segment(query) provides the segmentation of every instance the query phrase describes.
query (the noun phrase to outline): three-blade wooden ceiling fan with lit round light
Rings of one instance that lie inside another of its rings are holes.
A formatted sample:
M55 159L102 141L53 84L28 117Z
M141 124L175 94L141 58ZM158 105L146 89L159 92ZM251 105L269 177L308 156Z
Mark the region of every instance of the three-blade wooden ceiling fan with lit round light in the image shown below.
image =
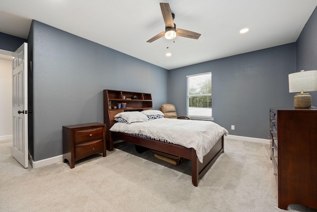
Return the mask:
M174 39L176 36L181 36L185 38L193 38L198 39L201 34L197 32L188 31L185 29L177 29L176 30L176 24L174 24L174 13L171 12L169 4L168 3L159 3L160 10L162 11L163 19L165 22L165 32L161 32L158 35L154 36L150 40L148 40L148 43L152 43L153 41L158 40L159 38L165 36L166 39Z

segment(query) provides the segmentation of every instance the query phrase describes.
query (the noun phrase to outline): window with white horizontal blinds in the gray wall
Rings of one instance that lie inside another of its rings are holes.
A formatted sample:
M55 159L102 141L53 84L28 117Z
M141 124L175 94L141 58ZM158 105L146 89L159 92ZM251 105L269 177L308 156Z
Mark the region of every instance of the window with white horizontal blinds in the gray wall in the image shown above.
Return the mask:
M191 119L213 120L211 72L187 76L187 115Z

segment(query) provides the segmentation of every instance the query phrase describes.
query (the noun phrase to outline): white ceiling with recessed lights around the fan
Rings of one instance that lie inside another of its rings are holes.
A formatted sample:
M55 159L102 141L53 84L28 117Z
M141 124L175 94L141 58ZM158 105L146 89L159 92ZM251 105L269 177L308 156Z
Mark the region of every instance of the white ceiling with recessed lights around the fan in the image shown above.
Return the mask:
M147 43L165 30L159 2L169 3L177 28L201 37ZM35 19L170 70L295 42L316 6L317 0L0 0L0 32L27 38ZM250 31L240 34L245 27Z

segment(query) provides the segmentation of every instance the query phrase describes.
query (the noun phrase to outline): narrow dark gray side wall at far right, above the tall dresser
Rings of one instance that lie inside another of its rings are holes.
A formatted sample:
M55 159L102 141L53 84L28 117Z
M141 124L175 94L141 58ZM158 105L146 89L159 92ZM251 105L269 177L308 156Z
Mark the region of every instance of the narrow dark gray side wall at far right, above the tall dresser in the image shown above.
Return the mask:
M296 71L317 70L317 8L296 41ZM312 95L312 106L317 107L317 91Z

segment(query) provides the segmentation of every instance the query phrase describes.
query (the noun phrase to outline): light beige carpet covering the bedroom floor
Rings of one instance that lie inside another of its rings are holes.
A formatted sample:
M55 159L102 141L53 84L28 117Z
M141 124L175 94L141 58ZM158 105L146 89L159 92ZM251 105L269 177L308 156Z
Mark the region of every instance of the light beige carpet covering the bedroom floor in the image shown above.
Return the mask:
M11 141L0 141L1 212L283 211L277 208L268 144L226 139L225 152L198 187L191 182L190 161L176 167L125 142L73 169L63 162L24 169L11 148Z

